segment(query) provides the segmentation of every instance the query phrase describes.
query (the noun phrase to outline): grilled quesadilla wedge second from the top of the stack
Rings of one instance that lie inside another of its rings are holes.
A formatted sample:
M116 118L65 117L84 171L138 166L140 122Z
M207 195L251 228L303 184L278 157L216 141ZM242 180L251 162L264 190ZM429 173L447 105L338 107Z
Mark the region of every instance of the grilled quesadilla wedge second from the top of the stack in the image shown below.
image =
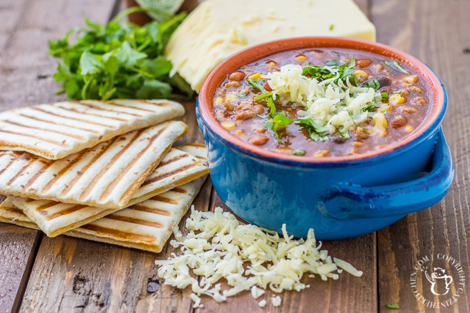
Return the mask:
M62 160L0 151L0 193L122 209L171 144L187 130L183 122L164 122L114 137Z

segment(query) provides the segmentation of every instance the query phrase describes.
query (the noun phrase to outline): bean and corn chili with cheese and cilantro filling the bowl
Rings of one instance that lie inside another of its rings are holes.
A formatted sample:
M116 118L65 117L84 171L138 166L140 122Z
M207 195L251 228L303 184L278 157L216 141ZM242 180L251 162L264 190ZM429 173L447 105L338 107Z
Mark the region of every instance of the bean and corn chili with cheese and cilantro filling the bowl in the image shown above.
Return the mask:
M278 153L354 155L400 142L432 104L418 73L356 50L294 50L242 66L216 89L230 133Z

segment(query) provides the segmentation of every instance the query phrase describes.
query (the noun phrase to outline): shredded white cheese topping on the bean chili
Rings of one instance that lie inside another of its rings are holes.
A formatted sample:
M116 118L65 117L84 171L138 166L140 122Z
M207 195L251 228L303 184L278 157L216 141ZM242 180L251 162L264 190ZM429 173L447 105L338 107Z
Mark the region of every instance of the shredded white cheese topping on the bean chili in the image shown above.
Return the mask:
M346 131L353 124L366 121L368 112L365 109L374 98L379 100L381 96L374 88L353 86L349 79L345 85L342 79L338 79L340 73L337 68L325 68L335 76L322 82L302 75L303 68L297 64L287 64L279 72L261 77L270 79L268 84L274 99L279 95L283 105L288 102L303 105L306 111L299 111L299 115L311 118L326 133L335 133L337 129Z

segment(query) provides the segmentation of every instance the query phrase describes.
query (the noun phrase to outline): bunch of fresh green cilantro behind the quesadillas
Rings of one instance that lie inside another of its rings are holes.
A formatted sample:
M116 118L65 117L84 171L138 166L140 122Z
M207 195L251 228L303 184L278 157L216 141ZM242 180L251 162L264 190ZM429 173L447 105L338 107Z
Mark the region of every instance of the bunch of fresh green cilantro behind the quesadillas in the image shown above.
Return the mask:
M63 83L58 93L70 99L158 99L190 97L191 88L179 75L169 77L171 62L162 56L171 34L185 14L168 15L144 26L118 23L140 9L130 8L106 26L85 19L90 29L74 28L63 39L49 41L49 54L58 57L54 78ZM77 39L69 42L71 35Z

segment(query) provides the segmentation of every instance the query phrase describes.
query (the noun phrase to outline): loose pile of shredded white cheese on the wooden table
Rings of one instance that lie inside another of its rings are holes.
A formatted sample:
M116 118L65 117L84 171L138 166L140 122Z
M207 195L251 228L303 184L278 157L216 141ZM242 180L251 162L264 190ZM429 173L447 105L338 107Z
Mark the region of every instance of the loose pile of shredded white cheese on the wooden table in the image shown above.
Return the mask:
M253 298L262 296L267 287L278 293L283 290L299 292L310 287L301 283L306 273L309 277L318 274L324 281L338 279L342 269L354 276L362 275L346 261L332 259L326 250L321 250L321 242L315 240L313 229L308 231L306 240L294 240L293 236L288 236L285 225L280 237L274 231L244 225L220 207L215 212L201 212L194 206L186 227L189 229L187 236L174 227L176 240L170 242L173 247L180 247L182 254L173 253L168 260L156 260L156 265L160 265L158 276L164 279L164 284L180 289L191 286L194 307L203 307L201 294L222 302L228 296L250 289ZM200 281L191 276L190 269L201 276ZM232 288L222 290L217 283L220 278L225 278ZM265 303L262 300L259 305ZM281 298L272 298L272 304L281 305Z

